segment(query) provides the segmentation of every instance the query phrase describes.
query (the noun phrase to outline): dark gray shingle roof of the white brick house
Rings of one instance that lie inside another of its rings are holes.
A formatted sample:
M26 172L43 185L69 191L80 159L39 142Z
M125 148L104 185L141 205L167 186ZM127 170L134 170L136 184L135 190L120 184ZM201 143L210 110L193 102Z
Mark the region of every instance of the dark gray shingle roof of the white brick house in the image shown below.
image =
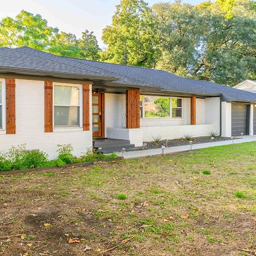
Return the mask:
M156 69L57 56L29 47L0 48L0 69L1 67L79 74L106 80L110 78L112 83L122 85L149 86L170 92L200 93L205 96L219 95L222 101L256 102L254 93L210 81L187 79Z

